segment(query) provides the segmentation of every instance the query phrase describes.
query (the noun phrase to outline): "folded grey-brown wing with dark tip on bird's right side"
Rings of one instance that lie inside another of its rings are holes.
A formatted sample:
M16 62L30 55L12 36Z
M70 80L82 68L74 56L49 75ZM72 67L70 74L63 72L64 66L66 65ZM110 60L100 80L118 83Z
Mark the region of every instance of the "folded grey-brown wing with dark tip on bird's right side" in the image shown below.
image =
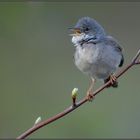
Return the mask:
M114 49L117 51L117 52L119 52L120 54L121 54L121 56L122 56L122 59L121 59L121 61L120 61L120 64L119 64L119 67L121 67L122 65L123 65L123 63L124 63L124 57L123 57L123 53L122 53L122 48L121 48L121 46L119 45L119 43L117 42L117 40L115 40L113 37L111 37L111 36L107 36L106 37L106 44L108 45L110 45L110 46L112 46L112 47L114 47Z

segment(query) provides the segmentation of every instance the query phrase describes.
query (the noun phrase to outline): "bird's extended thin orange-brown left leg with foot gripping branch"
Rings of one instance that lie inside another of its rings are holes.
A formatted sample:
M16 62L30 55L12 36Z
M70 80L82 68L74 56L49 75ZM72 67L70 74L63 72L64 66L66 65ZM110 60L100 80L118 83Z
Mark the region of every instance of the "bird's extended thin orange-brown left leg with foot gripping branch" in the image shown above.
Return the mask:
M90 87L89 87L89 89L88 89L88 91L87 91L87 95L86 95L86 97L87 97L87 99L89 100L89 101L92 101L93 100L93 98L94 98L94 95L93 95L93 86L94 86L94 84L95 84L95 79L91 79L91 84L90 84Z

